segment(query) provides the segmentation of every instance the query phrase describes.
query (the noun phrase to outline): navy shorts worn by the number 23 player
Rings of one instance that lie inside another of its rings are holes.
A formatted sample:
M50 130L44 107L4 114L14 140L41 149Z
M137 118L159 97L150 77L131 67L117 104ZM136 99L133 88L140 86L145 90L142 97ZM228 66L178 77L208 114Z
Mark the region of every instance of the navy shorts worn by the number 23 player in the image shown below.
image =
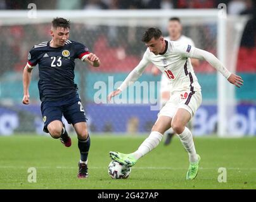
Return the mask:
M61 121L65 117L68 124L86 122L86 114L77 93L74 97L62 101L44 101L41 103L42 120L44 121L44 132L49 133L47 126L52 121Z

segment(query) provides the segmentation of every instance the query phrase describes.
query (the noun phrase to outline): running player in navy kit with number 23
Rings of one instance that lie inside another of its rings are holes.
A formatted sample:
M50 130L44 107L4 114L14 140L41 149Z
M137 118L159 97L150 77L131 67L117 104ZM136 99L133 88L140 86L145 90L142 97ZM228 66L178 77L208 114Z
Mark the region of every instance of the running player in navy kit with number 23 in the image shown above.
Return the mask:
M71 146L71 139L61 121L64 116L72 124L78 138L80 150L79 173L77 177L88 176L87 156L90 137L87 132L86 115L81 104L77 85L74 83L75 59L99 66L99 58L89 52L85 45L70 41L70 21L55 18L52 21L51 41L42 42L29 52L23 71L23 104L29 104L29 85L32 69L39 66L39 94L44 132L53 138L60 138L65 146Z

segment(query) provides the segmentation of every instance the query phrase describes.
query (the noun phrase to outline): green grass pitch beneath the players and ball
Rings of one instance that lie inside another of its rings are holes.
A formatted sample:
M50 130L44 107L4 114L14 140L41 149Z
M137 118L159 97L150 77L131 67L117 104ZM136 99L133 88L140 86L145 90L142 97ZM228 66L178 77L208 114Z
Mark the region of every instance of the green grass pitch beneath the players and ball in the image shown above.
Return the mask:
M198 177L186 181L188 156L178 138L161 143L132 167L128 179L113 180L107 172L108 151L130 153L145 136L91 136L89 178L77 179L77 139L65 148L49 136L0 137L0 189L255 189L256 138L195 138L202 161ZM37 182L27 181L29 167ZM218 182L226 167L227 182Z

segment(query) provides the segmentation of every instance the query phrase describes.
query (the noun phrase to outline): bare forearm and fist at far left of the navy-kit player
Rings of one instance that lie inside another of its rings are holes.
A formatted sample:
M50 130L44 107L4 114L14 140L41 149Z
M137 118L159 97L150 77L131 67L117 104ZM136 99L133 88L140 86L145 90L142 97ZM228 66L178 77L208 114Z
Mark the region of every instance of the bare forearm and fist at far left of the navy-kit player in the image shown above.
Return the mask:
M22 103L25 105L29 104L29 85L32 75L32 68L28 65L25 66L23 70L23 100Z

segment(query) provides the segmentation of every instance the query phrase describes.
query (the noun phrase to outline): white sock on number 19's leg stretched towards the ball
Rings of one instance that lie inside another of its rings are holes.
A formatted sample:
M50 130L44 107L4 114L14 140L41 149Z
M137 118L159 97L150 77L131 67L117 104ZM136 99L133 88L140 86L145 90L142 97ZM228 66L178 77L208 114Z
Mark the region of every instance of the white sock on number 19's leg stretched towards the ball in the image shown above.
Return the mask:
M153 150L153 148L156 148L157 145L162 140L163 135L161 133L158 133L157 131L152 131L150 133L150 136L146 138L146 140L143 141L141 146L139 146L138 150L132 153L134 157L138 160L139 158L146 155L146 153Z

